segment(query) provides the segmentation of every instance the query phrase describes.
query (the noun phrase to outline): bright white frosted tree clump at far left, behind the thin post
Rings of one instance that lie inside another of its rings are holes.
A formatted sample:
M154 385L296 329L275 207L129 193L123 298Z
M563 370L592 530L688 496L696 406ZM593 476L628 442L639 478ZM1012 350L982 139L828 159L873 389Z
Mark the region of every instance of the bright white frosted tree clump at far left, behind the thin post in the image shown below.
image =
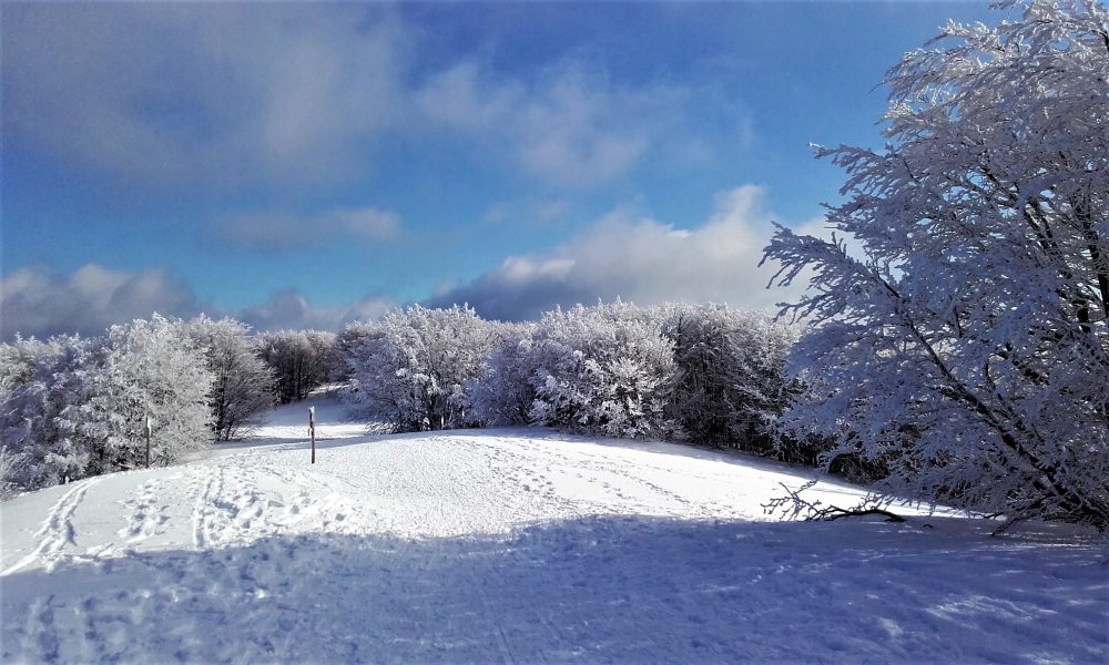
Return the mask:
M154 315L99 339L53 338L0 405L7 477L34 489L145 462L167 464L212 438L213 375L184 324Z

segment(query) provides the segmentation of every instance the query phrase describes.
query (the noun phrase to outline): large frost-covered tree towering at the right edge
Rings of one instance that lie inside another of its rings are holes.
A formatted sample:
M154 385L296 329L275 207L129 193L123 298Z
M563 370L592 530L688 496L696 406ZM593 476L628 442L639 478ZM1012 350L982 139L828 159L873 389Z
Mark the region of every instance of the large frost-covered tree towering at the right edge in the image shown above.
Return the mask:
M1105 530L1109 12L1021 9L891 70L885 150L818 150L862 254L785 228L767 247L781 283L811 274L784 311L818 324L787 424L881 459L892 491Z

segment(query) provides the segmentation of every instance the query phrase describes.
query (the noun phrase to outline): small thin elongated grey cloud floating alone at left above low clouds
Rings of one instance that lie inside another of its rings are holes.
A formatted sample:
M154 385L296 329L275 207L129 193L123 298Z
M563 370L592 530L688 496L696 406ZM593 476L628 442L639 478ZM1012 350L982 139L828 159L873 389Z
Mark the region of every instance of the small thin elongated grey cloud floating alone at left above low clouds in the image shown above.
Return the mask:
M214 225L216 242L266 253L296 252L354 238L370 243L399 237L400 217L376 208L336 208L314 216L291 213L242 213Z

